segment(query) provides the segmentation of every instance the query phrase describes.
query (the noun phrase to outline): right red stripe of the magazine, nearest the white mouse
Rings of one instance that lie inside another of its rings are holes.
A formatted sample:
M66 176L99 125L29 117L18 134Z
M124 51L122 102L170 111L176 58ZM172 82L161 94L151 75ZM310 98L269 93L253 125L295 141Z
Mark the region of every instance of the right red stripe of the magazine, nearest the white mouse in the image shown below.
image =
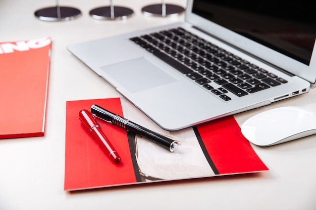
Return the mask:
M220 174L268 170L242 135L234 116L199 125L197 130Z

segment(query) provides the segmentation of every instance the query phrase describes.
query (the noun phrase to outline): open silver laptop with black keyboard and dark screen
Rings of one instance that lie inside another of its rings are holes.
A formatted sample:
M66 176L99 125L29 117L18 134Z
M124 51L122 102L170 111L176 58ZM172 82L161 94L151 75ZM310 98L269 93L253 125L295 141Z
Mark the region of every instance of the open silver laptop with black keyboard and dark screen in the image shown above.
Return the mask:
M68 50L163 129L179 130L314 87L312 8L188 0L184 22Z

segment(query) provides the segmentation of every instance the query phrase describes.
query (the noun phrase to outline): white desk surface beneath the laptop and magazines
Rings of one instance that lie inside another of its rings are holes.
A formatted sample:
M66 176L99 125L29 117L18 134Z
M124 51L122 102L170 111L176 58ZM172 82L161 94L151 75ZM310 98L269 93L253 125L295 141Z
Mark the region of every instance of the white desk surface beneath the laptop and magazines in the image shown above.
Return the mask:
M61 0L82 16L69 22L44 22L34 11L55 1L0 1L0 41L50 36L52 57L46 135L0 140L0 209L316 209L316 135L269 148L253 146L270 171L191 181L112 187L68 193L64 189L65 103L69 100L120 95L66 47L91 39L183 21L148 18L141 8L160 0L114 0L134 10L125 21L89 17L109 1ZM185 6L185 0L169 1ZM239 123L261 111L287 105L316 111L316 89L310 93L236 115ZM1 117L1 116L0 116Z

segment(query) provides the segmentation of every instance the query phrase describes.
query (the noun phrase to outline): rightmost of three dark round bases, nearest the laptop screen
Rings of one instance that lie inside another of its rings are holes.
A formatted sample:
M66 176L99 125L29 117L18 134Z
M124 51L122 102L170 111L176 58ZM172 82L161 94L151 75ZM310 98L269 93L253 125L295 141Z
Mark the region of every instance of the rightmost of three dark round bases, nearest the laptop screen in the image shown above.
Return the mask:
M181 15L184 12L184 8L177 5L166 4L166 10L164 13L163 5L157 4L143 7L141 12L145 16L171 17Z

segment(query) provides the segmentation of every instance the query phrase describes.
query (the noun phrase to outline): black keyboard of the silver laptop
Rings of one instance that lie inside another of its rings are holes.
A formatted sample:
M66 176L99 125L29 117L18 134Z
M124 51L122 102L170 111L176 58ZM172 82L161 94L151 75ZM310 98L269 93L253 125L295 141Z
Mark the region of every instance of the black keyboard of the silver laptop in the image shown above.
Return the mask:
M212 44L183 28L130 38L210 93L229 101L287 83L267 70Z

